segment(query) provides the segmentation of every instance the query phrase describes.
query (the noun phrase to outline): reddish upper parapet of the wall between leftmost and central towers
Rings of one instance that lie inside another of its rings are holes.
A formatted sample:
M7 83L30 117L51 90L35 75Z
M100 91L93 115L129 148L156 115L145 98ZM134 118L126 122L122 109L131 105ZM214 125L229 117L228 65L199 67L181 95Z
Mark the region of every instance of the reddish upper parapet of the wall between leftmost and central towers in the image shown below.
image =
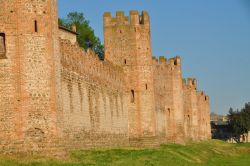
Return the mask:
M92 50L84 51L69 40L60 39L60 45L61 64L64 69L81 76L88 75L88 79L114 89L124 88L124 72L120 66L109 61L100 61Z

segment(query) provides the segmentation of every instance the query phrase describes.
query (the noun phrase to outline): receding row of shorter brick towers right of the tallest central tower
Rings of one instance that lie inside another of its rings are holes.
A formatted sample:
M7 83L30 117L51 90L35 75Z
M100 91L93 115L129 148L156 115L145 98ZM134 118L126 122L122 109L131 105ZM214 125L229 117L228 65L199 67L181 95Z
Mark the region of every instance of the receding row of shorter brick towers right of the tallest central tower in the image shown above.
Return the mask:
M210 139L209 97L197 91L196 79L182 78L178 56L169 60L160 56L153 61L160 140L181 143Z

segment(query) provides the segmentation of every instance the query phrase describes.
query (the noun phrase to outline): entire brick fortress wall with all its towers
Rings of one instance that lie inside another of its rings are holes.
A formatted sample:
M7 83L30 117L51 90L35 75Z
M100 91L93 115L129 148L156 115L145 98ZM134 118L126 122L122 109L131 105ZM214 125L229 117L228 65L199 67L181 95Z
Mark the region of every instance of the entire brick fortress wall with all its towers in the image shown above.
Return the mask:
M147 12L104 14L100 61L59 30L56 0L0 4L0 152L211 137L209 97L195 80L183 82L180 58L152 60Z

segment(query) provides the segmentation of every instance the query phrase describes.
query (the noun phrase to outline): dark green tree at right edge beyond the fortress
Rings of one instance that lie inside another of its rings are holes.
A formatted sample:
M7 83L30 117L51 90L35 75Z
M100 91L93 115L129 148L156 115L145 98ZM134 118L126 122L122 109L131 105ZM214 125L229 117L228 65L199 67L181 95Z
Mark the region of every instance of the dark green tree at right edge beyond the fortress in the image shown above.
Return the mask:
M250 131L250 102L239 110L229 109L229 124L236 135L241 135Z

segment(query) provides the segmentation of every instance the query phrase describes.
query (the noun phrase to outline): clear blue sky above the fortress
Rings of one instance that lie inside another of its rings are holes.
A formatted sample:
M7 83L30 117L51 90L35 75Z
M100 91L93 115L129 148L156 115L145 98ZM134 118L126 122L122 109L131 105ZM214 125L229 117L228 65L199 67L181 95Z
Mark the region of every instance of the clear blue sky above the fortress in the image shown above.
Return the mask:
M250 0L58 0L59 16L83 12L103 41L104 11L147 10L153 55L182 57L211 98L211 112L250 102Z

